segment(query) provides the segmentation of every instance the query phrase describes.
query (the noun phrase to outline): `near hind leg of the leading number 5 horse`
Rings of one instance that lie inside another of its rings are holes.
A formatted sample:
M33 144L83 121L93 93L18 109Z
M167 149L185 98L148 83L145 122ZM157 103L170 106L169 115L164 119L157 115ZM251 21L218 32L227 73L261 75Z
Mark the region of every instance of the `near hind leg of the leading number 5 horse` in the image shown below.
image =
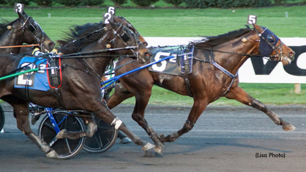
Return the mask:
M157 153L162 154L162 142L160 141L158 134L152 129L152 127L144 118L144 111L149 102L152 88L145 86L143 88L146 88L146 90L138 90L138 92L135 94L136 103L132 113L132 118L147 132L148 136L150 136L150 138L154 141L154 150Z

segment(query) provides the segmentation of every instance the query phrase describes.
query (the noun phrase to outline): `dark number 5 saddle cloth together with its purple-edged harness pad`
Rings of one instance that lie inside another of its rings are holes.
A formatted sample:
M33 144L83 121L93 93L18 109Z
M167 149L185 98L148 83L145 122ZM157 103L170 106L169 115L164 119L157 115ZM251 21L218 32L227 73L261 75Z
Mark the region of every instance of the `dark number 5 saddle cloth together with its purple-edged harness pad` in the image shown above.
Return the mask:
M159 72L169 75L181 76L182 74L192 73L193 47L189 46L167 46L167 47L150 47L152 52L151 62L156 62L168 56L174 56L160 63L149 67L151 72ZM188 55L182 55L190 53Z

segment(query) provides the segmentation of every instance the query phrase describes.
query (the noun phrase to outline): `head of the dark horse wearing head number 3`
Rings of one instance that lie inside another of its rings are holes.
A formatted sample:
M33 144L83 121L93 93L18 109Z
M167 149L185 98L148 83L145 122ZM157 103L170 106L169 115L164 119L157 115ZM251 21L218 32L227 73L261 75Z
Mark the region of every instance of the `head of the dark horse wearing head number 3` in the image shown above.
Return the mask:
M46 50L53 50L55 43L47 36L40 25L24 11L23 13L17 13L20 20L19 27L22 28L22 35L24 36L24 43L38 43L40 50L43 52L46 52Z

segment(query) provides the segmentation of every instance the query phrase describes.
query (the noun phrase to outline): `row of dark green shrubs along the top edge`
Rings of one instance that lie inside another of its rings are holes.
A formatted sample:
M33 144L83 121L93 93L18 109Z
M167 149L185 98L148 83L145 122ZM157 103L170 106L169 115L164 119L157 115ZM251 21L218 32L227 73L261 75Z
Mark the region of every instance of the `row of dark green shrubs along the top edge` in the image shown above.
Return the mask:
M52 6L55 2L63 4L65 6L96 6L102 4L105 0L0 0L0 4L9 4L13 6L15 2L29 5L30 1L35 2L39 6ZM111 0L115 6L121 6L127 3L127 0ZM159 0L131 0L138 6L150 6L151 4ZM182 2L186 3L188 8L237 8L237 7L262 7L270 6L271 0L163 0L166 3L173 4L175 7ZM274 0L275 2L281 0ZM284 0L283 0L284 1Z

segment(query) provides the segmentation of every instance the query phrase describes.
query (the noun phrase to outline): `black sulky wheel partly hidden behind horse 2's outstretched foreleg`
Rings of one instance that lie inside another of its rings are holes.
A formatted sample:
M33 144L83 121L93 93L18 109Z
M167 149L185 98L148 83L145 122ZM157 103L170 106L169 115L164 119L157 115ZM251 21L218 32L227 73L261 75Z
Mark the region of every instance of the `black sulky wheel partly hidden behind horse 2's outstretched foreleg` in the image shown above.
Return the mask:
M118 130L95 116L98 129L92 137L86 137L84 150L90 153L101 153L107 151L115 143Z

